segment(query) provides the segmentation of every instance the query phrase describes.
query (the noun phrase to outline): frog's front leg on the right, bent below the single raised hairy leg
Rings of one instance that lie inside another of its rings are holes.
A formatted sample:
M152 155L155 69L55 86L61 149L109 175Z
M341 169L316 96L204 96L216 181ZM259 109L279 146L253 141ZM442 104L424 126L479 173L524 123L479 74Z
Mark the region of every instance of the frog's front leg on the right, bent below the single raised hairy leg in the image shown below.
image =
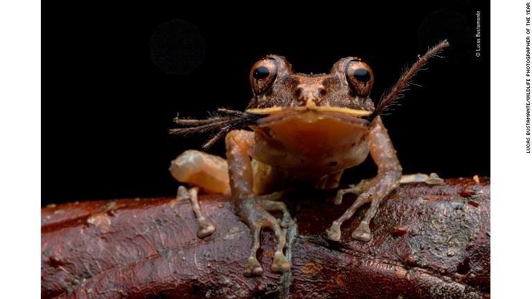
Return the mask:
M342 223L353 217L353 214L360 206L371 201L371 206L366 212L364 219L362 219L360 225L351 235L354 239L369 242L371 240L369 222L377 213L382 199L387 197L388 194L399 186L402 168L396 156L396 150L393 149L387 130L382 125L380 118L375 118L374 125L369 133L369 150L373 161L378 166L378 174L373 179L362 181L353 188L338 191L335 203L341 202L342 196L345 193L361 192L364 190L357 197L353 205L344 212L344 215L332 222L332 225L326 231L326 237L328 239L339 241L341 237L340 226L342 226Z

